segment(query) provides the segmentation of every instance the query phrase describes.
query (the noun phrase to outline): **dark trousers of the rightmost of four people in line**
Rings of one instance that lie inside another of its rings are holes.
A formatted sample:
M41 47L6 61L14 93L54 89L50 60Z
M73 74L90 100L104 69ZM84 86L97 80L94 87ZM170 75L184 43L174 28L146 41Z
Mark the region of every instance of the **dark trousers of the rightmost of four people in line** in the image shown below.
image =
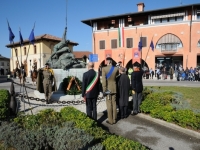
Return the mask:
M142 92L135 92L133 94L133 112L140 112L140 104L142 103Z

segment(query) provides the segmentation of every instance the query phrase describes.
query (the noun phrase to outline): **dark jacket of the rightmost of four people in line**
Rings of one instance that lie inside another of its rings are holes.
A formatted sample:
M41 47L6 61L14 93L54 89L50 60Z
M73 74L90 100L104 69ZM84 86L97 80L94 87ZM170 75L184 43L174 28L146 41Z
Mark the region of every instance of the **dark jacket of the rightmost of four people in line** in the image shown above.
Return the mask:
M135 92L143 91L142 76L143 76L142 70L134 71L131 74L131 87L132 87L132 90L134 90Z

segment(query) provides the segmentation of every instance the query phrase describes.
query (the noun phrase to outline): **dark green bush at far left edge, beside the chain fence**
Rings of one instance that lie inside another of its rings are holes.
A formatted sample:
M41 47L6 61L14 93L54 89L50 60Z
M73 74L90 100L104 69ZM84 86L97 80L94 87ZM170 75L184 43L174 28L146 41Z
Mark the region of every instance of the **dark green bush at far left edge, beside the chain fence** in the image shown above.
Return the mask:
M9 102L10 102L10 93L8 90L0 90L0 119L5 119L9 116Z

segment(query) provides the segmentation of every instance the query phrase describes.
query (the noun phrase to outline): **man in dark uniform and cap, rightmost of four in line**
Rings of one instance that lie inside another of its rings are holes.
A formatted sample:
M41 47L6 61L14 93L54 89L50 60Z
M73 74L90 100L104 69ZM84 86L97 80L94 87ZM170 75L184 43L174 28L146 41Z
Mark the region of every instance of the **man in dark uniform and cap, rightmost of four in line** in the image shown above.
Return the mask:
M142 102L143 83L142 76L143 70L140 69L140 64L136 63L133 67L133 73L131 74L131 87L133 93L133 112L132 115L140 113L140 104Z

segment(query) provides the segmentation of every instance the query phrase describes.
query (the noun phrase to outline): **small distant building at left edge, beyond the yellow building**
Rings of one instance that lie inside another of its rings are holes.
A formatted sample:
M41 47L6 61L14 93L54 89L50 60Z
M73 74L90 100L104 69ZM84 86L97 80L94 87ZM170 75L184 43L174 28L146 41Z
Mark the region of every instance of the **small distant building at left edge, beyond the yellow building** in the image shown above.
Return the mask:
M0 55L0 75L10 73L10 59Z

